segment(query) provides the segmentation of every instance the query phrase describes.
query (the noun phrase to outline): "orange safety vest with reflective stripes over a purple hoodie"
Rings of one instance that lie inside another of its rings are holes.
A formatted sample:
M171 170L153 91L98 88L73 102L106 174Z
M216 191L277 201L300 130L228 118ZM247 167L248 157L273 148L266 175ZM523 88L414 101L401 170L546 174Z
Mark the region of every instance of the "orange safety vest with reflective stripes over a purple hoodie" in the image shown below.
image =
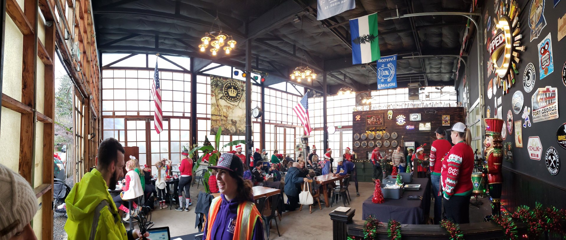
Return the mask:
M211 240L212 226L216 220L216 214L222 203L221 197L212 200L211 208L208 212L207 239ZM234 230L234 240L251 239L254 236L254 227L257 220L261 221L261 215L255 204L245 201L238 206L238 216L236 217L236 227Z

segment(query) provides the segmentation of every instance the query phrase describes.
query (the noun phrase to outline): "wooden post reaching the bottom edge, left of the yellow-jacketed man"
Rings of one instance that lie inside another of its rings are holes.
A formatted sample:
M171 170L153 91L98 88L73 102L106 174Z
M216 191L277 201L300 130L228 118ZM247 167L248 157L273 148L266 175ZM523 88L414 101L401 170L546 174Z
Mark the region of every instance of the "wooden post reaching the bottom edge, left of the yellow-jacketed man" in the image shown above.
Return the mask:
M56 24L56 23L53 23ZM49 58L55 58L55 25L45 26L45 51ZM53 63L53 62L52 62ZM50 189L41 197L42 239L53 238L53 145L55 137L55 71L54 64L45 65L45 103L44 115L51 119L50 123L44 123L43 130L43 177L42 183L49 184Z

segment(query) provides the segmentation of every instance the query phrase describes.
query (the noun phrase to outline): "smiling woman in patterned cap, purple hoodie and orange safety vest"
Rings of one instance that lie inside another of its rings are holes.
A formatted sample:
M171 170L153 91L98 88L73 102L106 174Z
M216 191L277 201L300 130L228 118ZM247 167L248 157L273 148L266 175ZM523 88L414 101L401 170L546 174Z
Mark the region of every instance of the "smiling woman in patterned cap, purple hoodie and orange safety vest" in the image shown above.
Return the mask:
M254 204L251 182L243 178L242 160L231 153L218 158L216 182L220 197L212 200L203 239L263 240L261 214Z

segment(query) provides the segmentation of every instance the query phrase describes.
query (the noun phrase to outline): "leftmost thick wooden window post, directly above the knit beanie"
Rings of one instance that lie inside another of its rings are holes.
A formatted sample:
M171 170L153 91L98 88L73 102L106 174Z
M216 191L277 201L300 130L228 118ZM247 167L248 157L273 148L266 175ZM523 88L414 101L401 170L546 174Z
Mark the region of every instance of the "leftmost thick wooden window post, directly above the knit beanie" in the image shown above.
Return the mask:
M37 78L37 0L24 1L24 16L31 24L30 34L24 34L22 57L22 103L35 109ZM33 152L35 151L36 111L22 114L20 123L19 173L33 186Z

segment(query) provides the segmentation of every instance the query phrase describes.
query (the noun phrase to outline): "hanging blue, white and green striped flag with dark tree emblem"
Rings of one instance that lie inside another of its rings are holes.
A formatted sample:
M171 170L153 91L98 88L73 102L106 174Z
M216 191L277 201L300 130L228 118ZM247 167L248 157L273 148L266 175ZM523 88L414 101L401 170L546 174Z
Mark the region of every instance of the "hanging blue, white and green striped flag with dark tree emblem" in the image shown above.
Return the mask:
M380 58L378 13L350 20L352 64L370 63Z

